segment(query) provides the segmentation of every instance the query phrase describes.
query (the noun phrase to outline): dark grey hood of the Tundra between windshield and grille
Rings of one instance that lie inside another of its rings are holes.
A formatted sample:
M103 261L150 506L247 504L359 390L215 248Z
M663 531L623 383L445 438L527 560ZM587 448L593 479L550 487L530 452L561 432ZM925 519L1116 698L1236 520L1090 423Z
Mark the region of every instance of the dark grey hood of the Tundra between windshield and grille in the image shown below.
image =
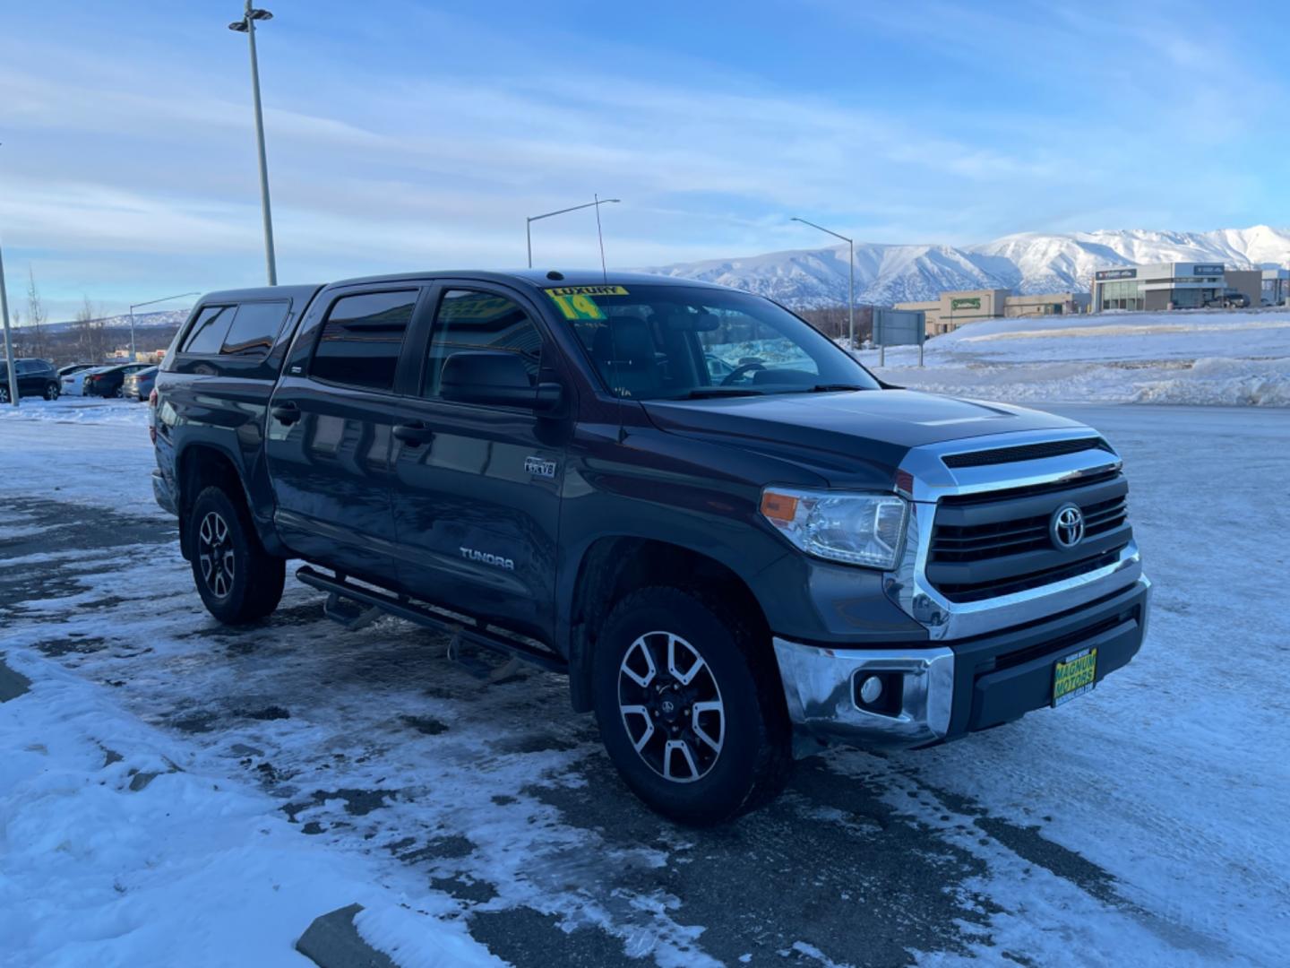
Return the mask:
M826 478L864 469L866 478L878 471L890 480L909 449L924 444L1082 426L1022 407L911 390L649 400L642 405L659 430L791 459Z

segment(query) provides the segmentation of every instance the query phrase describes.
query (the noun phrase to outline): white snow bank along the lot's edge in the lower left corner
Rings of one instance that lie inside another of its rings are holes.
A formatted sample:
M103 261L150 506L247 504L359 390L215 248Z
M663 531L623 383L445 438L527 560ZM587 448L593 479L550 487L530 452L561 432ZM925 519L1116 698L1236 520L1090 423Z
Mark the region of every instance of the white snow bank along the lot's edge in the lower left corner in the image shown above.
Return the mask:
M101 687L27 652L0 705L0 937L23 965L299 965L295 940L357 901L419 964L497 965L441 896L400 906L366 858L303 838L268 798L201 771ZM413 929L415 924L415 929Z

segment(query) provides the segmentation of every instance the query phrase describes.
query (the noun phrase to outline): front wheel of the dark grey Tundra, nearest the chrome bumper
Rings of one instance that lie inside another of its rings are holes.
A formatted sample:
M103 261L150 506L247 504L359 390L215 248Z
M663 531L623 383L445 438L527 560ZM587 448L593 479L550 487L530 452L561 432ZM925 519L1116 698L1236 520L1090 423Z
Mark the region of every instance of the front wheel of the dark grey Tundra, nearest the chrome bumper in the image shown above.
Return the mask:
M632 592L605 621L593 676L605 749L659 813L720 823L787 782L791 728L773 653L722 604Z

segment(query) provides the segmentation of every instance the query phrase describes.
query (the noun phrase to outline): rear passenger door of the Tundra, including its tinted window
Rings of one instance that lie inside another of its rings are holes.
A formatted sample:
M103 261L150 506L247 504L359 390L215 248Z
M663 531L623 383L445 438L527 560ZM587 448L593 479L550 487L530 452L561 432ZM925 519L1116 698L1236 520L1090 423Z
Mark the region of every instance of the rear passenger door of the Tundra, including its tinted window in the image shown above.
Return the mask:
M390 585L391 430L417 285L342 290L297 337L270 401L273 520L295 554ZM307 341L304 351L302 341Z

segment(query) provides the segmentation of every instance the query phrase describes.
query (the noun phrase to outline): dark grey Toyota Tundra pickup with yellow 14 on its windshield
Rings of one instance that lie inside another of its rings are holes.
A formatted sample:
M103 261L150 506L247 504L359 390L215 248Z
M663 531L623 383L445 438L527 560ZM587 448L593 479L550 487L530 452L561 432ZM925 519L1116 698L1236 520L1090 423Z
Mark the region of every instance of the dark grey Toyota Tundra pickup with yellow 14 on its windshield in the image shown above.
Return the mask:
M706 348L739 365L713 377ZM888 386L725 287L212 293L152 396L154 492L217 620L272 613L304 559L346 627L392 614L566 674L626 783L685 822L766 803L828 742L930 746L1076 700L1147 623L1095 430Z

